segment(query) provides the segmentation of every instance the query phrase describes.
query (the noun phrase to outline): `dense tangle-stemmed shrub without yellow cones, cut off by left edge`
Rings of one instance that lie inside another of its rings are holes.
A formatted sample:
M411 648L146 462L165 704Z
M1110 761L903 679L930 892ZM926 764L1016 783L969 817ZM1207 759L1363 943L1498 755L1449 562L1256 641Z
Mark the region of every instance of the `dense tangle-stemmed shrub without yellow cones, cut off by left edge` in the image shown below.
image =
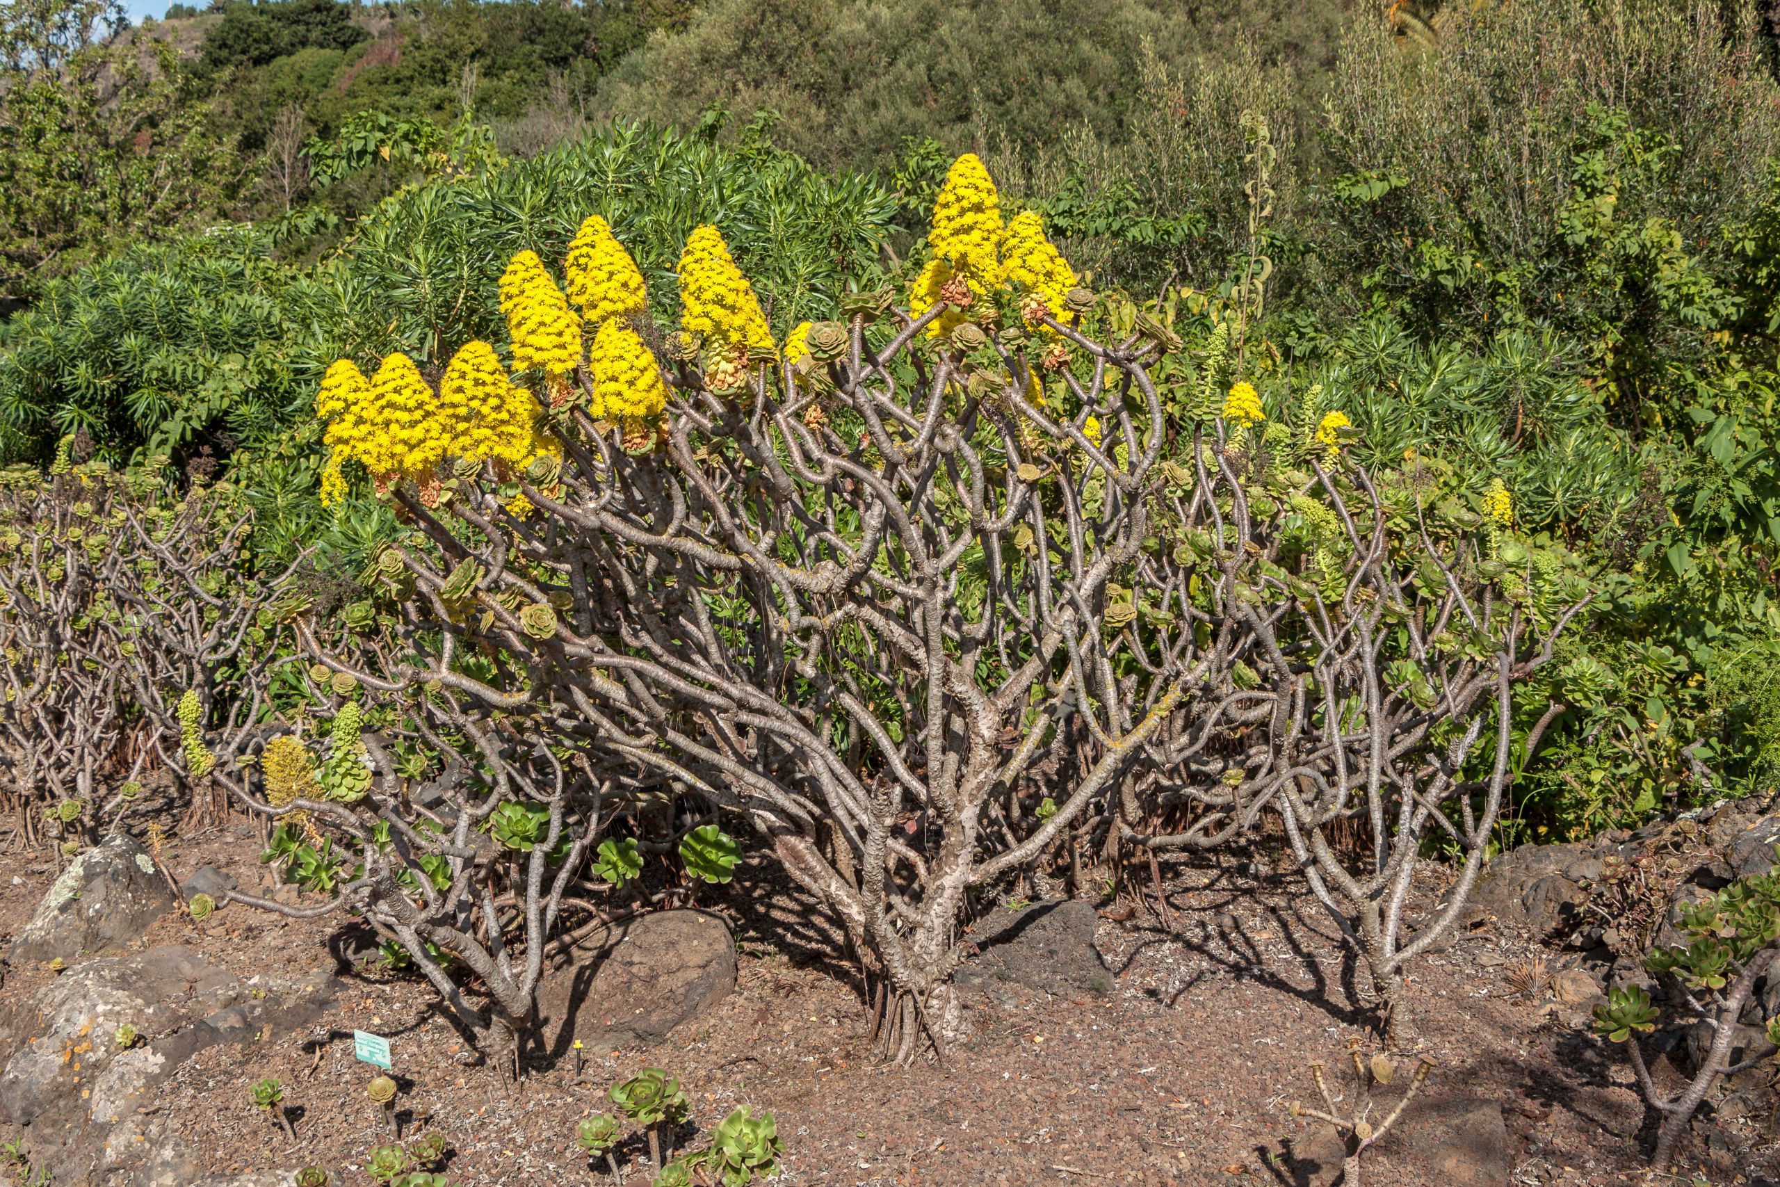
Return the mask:
M69 452L0 475L0 749L14 803L91 828L125 803L103 783L150 755L196 794L247 744L281 575L247 562L253 516L228 482L180 489L164 457L114 472Z

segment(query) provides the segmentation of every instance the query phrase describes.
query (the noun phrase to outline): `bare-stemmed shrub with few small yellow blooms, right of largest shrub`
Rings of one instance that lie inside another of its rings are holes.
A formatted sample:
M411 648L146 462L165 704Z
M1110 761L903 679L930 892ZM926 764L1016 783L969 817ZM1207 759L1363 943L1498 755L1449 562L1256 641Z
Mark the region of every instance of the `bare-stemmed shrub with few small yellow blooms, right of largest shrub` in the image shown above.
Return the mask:
M1152 623L1146 651L1193 680L1118 831L1209 849L1276 819L1401 1039L1403 970L1460 918L1515 747L1536 749L1561 710L1517 735L1513 689L1590 584L1561 546L1513 530L1501 480L1353 464L1356 429L1319 395L1282 422L1235 384L1194 459L1168 466L1155 520L1173 546L1141 569L1171 621ZM1429 852L1456 860L1451 879Z

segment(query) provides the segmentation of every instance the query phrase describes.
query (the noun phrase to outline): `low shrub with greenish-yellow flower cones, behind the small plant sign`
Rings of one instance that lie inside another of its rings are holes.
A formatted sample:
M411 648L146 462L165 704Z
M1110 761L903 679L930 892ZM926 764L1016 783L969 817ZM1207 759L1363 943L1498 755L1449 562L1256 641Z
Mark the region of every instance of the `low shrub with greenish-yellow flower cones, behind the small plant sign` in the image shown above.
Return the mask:
M313 731L272 737L253 767L215 776L274 822L265 861L320 902L230 897L297 918L356 913L392 965L425 977L454 1025L516 1071L546 940L616 803L611 779L571 723L527 712L523 696L493 710L452 687L374 676L427 641L354 609L345 619L299 626L333 664L303 676L319 708L299 723ZM441 666L454 658L445 641Z

